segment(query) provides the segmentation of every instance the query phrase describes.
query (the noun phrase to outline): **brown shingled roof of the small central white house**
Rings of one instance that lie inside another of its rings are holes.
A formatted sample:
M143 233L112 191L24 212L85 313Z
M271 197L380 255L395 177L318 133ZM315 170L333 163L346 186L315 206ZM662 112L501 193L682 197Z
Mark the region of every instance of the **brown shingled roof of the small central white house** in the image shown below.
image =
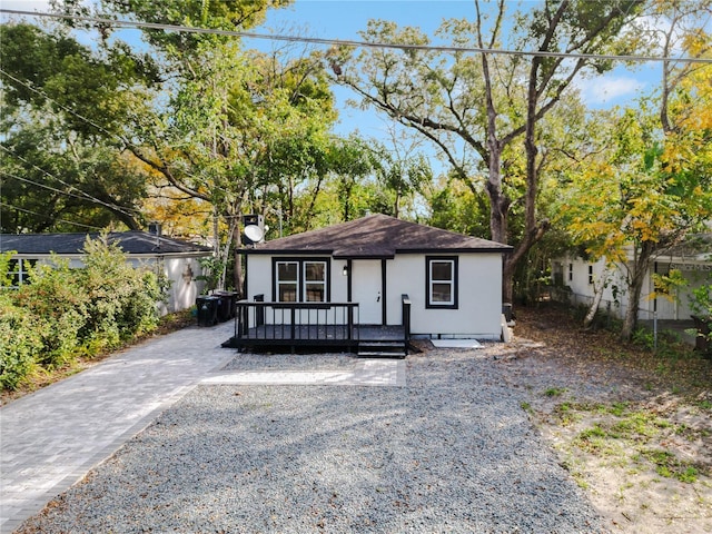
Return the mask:
M396 253L508 253L501 243L369 215L318 230L260 243L248 254L329 254L335 258L392 258Z

